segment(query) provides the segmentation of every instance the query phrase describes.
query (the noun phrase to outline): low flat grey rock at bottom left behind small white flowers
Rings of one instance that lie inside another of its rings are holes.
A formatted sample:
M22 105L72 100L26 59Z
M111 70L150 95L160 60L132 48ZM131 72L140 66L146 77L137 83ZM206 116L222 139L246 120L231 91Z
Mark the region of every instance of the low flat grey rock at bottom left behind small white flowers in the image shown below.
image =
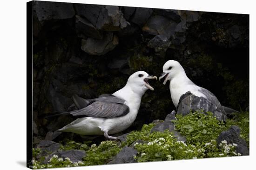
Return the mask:
M66 157L70 159L70 161L79 162L82 161L82 158L86 156L85 151L81 150L68 150L68 151L56 151L49 156L45 157L44 164L47 164L49 159L53 157L54 155L57 155L58 157L62 157L64 160Z

